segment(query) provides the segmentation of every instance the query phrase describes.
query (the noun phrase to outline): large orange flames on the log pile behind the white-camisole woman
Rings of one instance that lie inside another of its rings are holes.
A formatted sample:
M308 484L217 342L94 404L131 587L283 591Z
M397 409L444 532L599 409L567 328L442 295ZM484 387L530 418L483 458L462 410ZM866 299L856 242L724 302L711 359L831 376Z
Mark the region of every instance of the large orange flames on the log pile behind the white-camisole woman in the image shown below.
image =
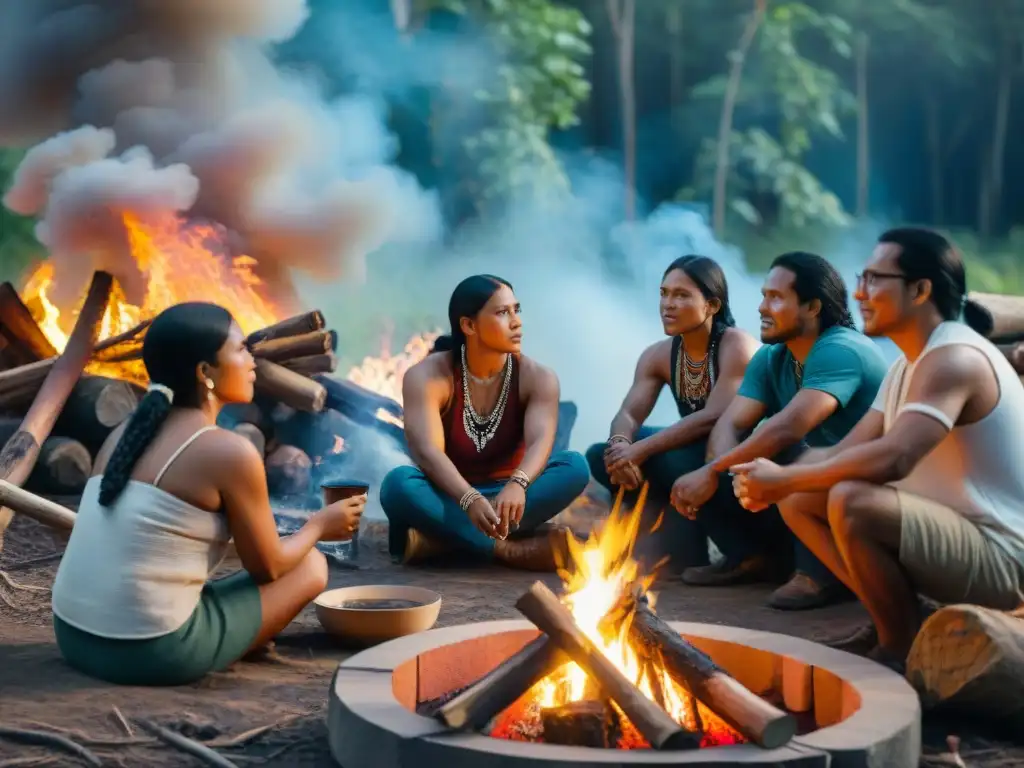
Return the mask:
M260 293L253 272L255 259L227 253L226 230L215 224L188 222L176 216L143 222L131 214L123 217L135 263L146 281L141 306L130 304L115 285L99 329L99 340L125 333L164 309L184 301L213 301L234 316L242 331L252 333L280 319L279 312ZM74 317L80 310L63 311L50 299L53 264L44 261L29 276L22 297L40 329L59 352L68 344ZM84 300L84 297L83 297ZM90 373L120 376L144 383L141 360L92 362Z

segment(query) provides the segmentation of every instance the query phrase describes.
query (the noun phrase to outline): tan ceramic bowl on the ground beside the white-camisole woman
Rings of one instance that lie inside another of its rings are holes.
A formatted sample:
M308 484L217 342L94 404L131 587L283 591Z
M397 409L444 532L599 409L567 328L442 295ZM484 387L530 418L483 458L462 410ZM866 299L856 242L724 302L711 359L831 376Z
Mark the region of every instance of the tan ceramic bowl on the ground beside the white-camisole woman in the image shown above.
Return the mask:
M387 600L417 605L394 608L346 605L355 601ZM440 613L441 596L422 587L342 587L323 593L314 605L316 618L331 635L357 645L375 645L429 630Z

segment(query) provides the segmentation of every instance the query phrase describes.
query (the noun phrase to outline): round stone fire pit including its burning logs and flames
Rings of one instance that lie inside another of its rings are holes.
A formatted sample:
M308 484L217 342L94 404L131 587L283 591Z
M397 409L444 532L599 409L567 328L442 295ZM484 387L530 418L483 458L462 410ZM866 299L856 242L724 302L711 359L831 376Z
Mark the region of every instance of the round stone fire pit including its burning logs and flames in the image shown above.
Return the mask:
M561 596L537 582L518 599L529 624L427 632L342 664L329 723L341 765L916 765L921 707L895 673L658 616L632 557L641 515L622 507L621 493L585 544L569 540Z

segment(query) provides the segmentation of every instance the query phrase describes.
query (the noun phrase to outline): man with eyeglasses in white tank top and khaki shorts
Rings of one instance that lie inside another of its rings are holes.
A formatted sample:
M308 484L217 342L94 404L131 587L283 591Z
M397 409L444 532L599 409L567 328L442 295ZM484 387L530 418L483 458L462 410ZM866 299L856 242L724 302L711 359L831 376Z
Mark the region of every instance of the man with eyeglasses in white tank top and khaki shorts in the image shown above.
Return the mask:
M957 322L966 285L941 234L883 234L856 299L865 333L903 354L871 411L813 463L733 467L743 506L779 502L867 608L873 627L846 647L897 669L921 627L919 593L1004 610L1024 602L1024 386Z

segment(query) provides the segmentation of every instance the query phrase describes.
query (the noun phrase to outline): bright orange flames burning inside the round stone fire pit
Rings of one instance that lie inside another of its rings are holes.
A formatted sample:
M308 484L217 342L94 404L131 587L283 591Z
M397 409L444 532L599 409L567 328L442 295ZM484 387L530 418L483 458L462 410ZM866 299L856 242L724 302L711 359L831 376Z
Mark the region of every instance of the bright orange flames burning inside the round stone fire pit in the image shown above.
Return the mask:
M607 520L594 529L586 543L570 539L569 562L559 569L564 583L564 603L584 634L645 696L663 707L677 723L703 733L702 746L740 743L742 736L677 685L659 664L640 657L628 641L629 617L617 622L613 628L608 627L607 617L613 613L621 598L638 585L647 591L654 581L654 573L641 574L639 564L633 559L633 543L646 496L645 484L634 509L624 511L620 493ZM655 522L655 526L659 522ZM647 597L653 607L654 595L648 591ZM594 691L588 693L587 689L587 674L570 662L506 710L498 718L492 735L512 740L537 740L543 730L541 710L593 697ZM622 712L618 716L624 725L618 746L649 746Z

